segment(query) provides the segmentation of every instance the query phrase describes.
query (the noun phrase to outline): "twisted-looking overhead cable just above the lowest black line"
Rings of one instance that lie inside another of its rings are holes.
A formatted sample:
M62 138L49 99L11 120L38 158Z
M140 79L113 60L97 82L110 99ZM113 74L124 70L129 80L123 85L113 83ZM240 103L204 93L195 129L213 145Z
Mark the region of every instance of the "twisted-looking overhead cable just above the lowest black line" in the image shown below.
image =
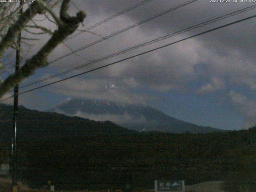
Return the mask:
M182 29L182 30L177 30L176 32L172 32L172 33L170 33L170 34L167 34L167 35L164 35L164 36L160 36L160 37L158 37L158 38L155 38L155 39L153 39L153 40L150 40L150 41L147 41L147 42L138 44L138 45L136 45L136 46L132 46L132 47L127 48L127 49L125 49L125 50L121 50L121 51L115 52L115 53L110 54L110 55L108 55L108 56L105 56L105 57L103 57L103 58L99 58L99 59L97 59L97 60L91 61L91 62L89 62L89 63L82 64L82 65L80 65L80 66L71 68L71 69L69 69L69 70L65 70L65 71L63 71L63 72L60 72L60 73L58 73L58 74L55 74L55 75L52 75L52 76L49 76L49 77L46 77L46 78L43 78L43 79L41 79L41 80L38 80L38 81L35 81L35 82L31 82L31 83L25 84L24 86L21 86L20 88L25 88L25 87L28 87L28 86L32 86L32 85L34 85L34 84L38 84L38 83L40 83L40 82L44 82L44 81L46 81L46 80L55 78L55 77L57 77L57 76L60 76L60 75L63 75L63 74L67 74L67 73L69 73L69 72L72 72L72 71L75 71L75 70L78 70L78 69L81 69L81 68L90 66L90 65L92 65L92 64L101 62L101 61L103 61L103 60L106 60L106 59L109 59L109 58L118 56L118 55L120 55L120 54L124 54L124 53L126 53L126 52L130 52L130 51L135 50L135 49L137 49L137 48L141 48L141 47L144 47L144 46L146 46L146 45L149 45L149 44L152 44L152 43L161 41L161 40L165 40L165 39L167 39L167 38L176 36L176 35L178 35L178 34L181 34L181 33L184 33L184 32L188 32L188 31L190 31L190 30L193 30L193 29L196 29L196 28L200 28L200 27L202 27L202 26L206 26L206 25L208 25L208 24L211 24L211 23L214 23L214 22L223 20L223 19L228 18L228 17L230 17L230 16L234 16L234 15L236 15L236 14L240 14L240 13L242 13L242 12L246 12L246 11L248 11L248 10L252 10L252 9L255 9L255 8L256 8L256 5L254 5L254 6L249 6L249 7L246 7L246 8L240 9L240 10L236 10L236 11L231 12L231 13L228 13L228 14L224 14L224 15L222 15L222 16L218 16L217 18L213 18L213 19L210 19L210 20L206 20L206 21L201 22L201 23L199 23L199 24L196 24L196 25L194 25L194 26L190 26L190 27L185 28L185 29Z

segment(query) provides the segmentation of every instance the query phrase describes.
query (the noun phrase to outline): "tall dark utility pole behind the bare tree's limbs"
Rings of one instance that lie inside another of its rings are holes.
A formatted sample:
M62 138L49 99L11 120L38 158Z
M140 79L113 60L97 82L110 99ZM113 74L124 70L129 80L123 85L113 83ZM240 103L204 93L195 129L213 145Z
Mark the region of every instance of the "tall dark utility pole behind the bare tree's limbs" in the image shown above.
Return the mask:
M22 14L22 2L20 1L20 11ZM19 15L20 16L20 15ZM15 72L20 69L20 42L21 42L21 31L18 34L17 39L17 50L16 50L16 64ZM13 127L12 127L12 192L17 192L17 123L18 123L18 93L19 84L14 87L14 103L13 103Z

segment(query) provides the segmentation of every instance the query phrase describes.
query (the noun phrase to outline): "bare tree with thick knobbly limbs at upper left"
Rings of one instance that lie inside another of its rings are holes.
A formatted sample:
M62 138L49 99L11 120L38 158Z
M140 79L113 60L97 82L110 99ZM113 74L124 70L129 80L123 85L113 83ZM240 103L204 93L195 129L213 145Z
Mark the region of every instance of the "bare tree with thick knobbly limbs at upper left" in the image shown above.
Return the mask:
M16 38L22 30L31 34L50 34L46 44L31 58L27 59L20 70L0 83L0 98L24 78L34 74L36 68L47 66L48 55L84 21L86 17L84 11L77 12L76 16L68 14L69 4L70 0L35 0L33 3L26 4L26 10L22 14L19 14L21 6L17 6L17 4L0 4L0 66L2 69L1 61L4 54L9 48L14 50L18 48ZM60 5L59 16L54 13L54 7L58 5ZM54 22L56 30L52 32L49 28L36 24L33 18L37 14ZM33 29L40 30L40 32L34 32Z

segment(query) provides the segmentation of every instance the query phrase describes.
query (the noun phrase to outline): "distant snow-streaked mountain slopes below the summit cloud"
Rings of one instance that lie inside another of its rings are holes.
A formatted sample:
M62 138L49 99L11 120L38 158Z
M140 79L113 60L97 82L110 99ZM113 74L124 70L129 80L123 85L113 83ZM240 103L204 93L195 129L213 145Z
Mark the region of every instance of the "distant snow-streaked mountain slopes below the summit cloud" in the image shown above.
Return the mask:
M178 120L146 104L118 104L102 100L69 98L48 111L94 120L110 120L120 126L136 131L172 133L223 131Z

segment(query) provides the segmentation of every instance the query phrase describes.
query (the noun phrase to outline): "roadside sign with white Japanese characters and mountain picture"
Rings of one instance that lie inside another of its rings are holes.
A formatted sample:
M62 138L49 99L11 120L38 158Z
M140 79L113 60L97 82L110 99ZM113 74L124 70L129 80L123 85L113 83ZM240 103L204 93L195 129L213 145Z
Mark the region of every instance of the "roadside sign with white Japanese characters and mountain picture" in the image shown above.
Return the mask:
M155 180L155 192L185 192L184 180Z

